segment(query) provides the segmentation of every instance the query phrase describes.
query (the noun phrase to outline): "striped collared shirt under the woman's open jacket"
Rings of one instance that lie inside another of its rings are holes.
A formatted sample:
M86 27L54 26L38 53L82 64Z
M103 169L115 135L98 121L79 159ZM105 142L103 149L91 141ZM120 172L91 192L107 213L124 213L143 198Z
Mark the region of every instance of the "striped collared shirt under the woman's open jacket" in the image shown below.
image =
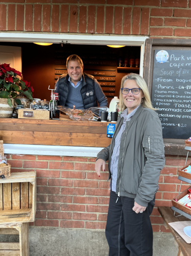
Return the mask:
M118 156L120 154L121 137L122 137L122 134L125 130L126 122L131 120L131 117L134 115L134 113L136 112L138 107L135 108L130 114L128 114L128 109L127 108L121 113L121 116L124 117L124 121L123 121L123 124L122 124L120 130L118 131L118 133L115 137L113 153L112 153L112 156L111 156L111 166L110 166L110 169L111 169L110 189L112 191L115 191L115 192L116 192L117 165L118 165Z

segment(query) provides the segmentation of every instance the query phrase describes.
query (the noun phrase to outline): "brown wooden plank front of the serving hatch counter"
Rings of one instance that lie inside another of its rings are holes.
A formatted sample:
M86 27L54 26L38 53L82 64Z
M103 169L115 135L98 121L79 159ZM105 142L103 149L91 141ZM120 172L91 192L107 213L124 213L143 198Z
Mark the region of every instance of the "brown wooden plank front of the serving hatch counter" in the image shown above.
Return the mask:
M0 140L11 144L107 147L107 123L0 119Z

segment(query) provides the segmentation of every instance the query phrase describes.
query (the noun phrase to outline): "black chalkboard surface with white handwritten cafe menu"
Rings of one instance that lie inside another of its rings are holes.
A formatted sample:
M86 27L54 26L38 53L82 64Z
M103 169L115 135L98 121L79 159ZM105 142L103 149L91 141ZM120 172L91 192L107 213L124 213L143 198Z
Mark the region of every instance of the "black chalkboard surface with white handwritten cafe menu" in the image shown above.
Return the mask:
M163 138L191 136L191 51L155 50L152 104Z

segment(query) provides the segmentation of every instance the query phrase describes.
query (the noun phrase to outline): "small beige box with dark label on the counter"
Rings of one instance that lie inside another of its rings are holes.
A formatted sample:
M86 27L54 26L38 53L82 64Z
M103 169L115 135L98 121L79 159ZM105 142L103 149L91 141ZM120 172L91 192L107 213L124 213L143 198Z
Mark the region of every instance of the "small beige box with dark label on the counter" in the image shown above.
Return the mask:
M50 119L49 110L18 109L18 119Z

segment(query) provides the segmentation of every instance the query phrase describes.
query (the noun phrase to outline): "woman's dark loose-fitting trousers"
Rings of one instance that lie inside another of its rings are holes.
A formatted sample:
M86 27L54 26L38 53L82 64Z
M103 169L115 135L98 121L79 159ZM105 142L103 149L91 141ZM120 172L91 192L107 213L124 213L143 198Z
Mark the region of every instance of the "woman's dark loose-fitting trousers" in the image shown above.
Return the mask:
M150 214L154 207L151 201L143 213L132 210L134 199L110 192L106 225L109 256L152 256L153 230Z

